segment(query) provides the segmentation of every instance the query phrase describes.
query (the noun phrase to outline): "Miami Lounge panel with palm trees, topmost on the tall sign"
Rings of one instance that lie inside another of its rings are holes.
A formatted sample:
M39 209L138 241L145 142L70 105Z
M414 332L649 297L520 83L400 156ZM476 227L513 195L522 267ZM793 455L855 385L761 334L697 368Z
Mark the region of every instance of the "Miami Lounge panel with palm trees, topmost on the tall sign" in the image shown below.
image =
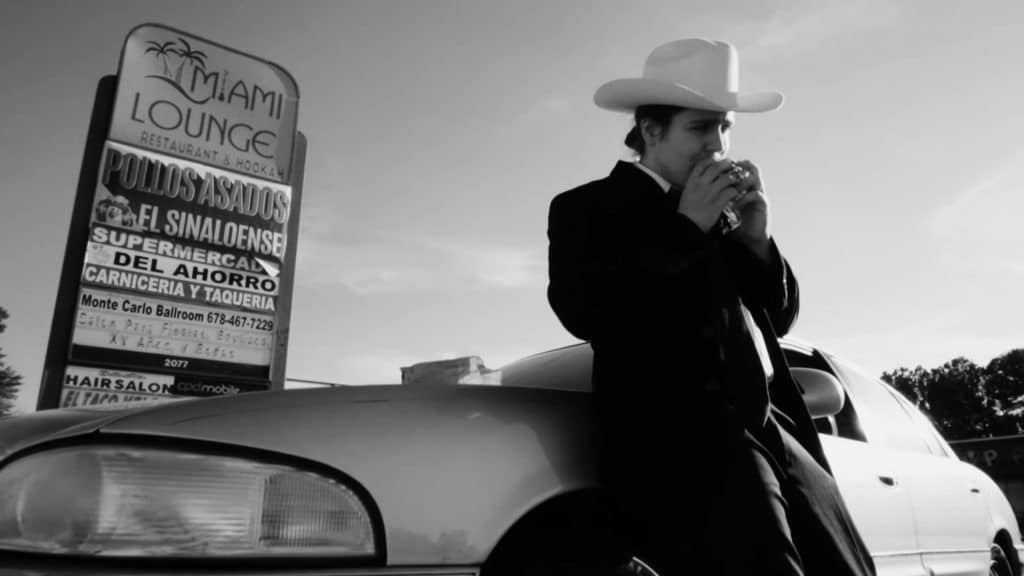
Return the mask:
M287 182L299 91L284 69L159 25L121 54L112 139Z

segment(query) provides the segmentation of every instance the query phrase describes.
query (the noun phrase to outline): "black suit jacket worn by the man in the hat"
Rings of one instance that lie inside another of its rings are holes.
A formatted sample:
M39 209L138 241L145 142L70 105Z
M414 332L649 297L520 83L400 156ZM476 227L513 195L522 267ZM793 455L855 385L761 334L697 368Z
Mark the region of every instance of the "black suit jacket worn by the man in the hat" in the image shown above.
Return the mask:
M737 242L705 234L628 162L555 197L548 236L548 299L565 328L594 348L606 451L656 462L699 440L714 454L743 426L730 395L765 382L760 363L751 366L750 355L727 345L742 301L774 365L772 409L829 469L776 337L796 320L799 289L774 243L768 265ZM761 381L729 381L740 377Z

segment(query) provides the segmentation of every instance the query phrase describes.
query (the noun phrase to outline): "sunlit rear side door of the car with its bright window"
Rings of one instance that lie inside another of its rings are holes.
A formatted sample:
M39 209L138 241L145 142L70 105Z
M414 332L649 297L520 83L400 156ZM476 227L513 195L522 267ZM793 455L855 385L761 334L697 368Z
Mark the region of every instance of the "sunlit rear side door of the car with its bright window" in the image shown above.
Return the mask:
M937 576L987 574L993 535L981 487L972 484L963 463L936 453L931 430L897 392L845 361L833 360L879 465L886 462L892 486L909 497L924 567Z

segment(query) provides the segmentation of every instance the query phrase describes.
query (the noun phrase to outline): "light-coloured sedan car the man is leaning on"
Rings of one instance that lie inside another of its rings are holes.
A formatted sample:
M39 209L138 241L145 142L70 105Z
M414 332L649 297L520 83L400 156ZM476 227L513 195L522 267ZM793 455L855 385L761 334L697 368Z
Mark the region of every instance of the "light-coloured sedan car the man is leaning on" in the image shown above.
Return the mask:
M879 574L1020 574L1007 498L927 417L837 356L783 351ZM0 574L591 573L615 543L591 363L574 344L401 384L0 419ZM757 537L741 518L728 536Z

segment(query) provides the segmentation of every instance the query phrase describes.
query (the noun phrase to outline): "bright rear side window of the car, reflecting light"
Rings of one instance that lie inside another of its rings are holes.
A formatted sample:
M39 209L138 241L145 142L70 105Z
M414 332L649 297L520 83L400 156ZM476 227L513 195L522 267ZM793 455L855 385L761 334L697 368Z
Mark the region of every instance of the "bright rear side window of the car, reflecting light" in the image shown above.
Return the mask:
M882 380L863 374L849 363L834 359L847 385L848 400L857 408L867 441L893 450L931 454L925 435Z

